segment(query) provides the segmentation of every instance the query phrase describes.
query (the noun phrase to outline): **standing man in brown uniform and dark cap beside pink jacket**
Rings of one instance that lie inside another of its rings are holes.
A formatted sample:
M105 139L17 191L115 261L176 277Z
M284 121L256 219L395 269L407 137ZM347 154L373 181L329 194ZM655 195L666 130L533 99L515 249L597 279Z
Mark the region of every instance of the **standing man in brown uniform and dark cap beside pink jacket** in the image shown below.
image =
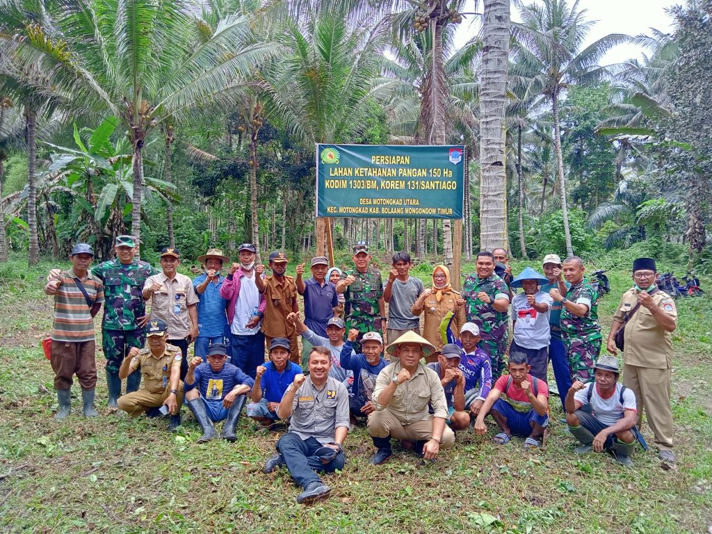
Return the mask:
M287 320L287 315L298 312L297 286L292 276L286 276L288 263L287 255L282 251L275 251L269 255L269 268L272 275L262 279L256 276L255 285L260 293L265 295L267 308L262 320L262 332L265 335L267 346L271 345L275 337L286 337L289 340L289 360L299 364L299 348L297 346L297 329L292 321ZM260 266L258 266L259 268ZM258 271L258 275L261 274Z

